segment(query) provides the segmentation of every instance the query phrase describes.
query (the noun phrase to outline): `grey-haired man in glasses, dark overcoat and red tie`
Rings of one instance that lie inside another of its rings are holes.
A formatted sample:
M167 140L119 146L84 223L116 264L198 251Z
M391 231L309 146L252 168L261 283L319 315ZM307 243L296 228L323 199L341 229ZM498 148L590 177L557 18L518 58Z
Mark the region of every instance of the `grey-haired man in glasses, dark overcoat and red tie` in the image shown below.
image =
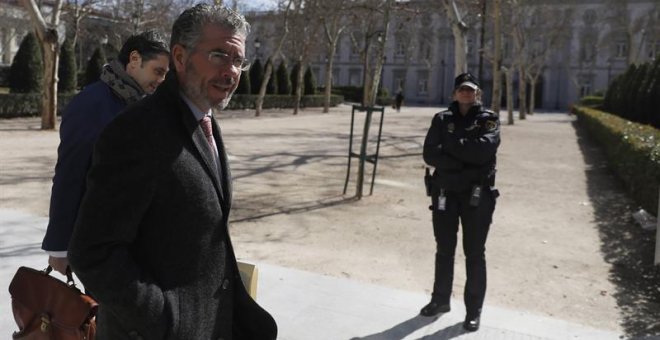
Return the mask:
M175 21L173 70L94 150L69 260L99 301L99 339L275 339L228 231L231 176L213 109L245 62L250 26L200 4Z

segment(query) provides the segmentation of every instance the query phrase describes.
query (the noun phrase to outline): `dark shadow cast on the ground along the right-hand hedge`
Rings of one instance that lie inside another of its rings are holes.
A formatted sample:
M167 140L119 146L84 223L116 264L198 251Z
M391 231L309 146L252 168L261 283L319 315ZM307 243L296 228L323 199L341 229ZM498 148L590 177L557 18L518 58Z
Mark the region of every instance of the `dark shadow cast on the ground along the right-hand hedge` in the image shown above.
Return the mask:
M655 231L642 229L632 218L637 210L624 183L607 168L604 152L574 122L587 164L587 190L594 207L601 253L611 264L611 293L618 304L621 326L628 337L660 338L660 268L653 265Z

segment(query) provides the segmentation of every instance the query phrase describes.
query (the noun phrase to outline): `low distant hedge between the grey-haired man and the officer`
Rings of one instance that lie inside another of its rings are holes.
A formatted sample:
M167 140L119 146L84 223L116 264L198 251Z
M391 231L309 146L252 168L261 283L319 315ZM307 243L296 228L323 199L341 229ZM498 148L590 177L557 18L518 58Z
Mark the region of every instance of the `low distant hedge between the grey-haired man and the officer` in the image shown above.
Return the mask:
M254 102L257 100L257 95L250 94L234 94L227 106L228 110L243 110L243 109L254 109ZM303 96L301 99L300 105L302 107L321 107L325 101L324 95L309 95ZM330 96L330 106L337 106L344 102L344 97L338 95ZM273 109L273 108L288 108L294 107L296 103L295 96L287 95L267 95L264 97L264 103L262 108L264 109Z

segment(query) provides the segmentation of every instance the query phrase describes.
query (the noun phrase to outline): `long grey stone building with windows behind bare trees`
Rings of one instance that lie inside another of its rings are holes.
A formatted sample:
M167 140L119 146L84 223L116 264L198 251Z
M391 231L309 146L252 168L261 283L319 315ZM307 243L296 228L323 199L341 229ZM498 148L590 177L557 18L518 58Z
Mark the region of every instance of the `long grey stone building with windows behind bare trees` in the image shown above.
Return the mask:
M436 2L437 3L437 2ZM492 2L487 2L491 4ZM437 4L433 10L428 0L411 0L411 8L421 9L413 20L392 17L387 37L385 64L381 83L393 94L401 86L407 104L447 105L453 86L454 38L448 20ZM651 61L660 55L660 3L651 1L611 0L538 0L529 5L527 18L533 44L547 46L546 21L566 17L560 41L547 53L533 91L538 108L565 110L579 97L604 92L608 83L625 71L630 63ZM251 13L253 34L248 54L267 56L274 46L272 32L277 31L273 13ZM467 20L467 19L466 19ZM503 20L509 20L503 17ZM481 50L481 23L476 17L467 32L468 68L478 73ZM403 29L398 29L403 26ZM484 49L491 30L487 24ZM556 28L555 28L556 29ZM322 38L320 38L322 39ZM255 41L259 41L255 48ZM510 62L513 42L504 39L504 64ZM319 49L311 58L311 68L318 84L324 83L326 55ZM481 83L484 102L491 102L492 66L482 58ZM333 83L337 86L362 85L362 63L348 35L337 49L333 65ZM517 102L518 77L514 77ZM504 94L503 94L504 96Z

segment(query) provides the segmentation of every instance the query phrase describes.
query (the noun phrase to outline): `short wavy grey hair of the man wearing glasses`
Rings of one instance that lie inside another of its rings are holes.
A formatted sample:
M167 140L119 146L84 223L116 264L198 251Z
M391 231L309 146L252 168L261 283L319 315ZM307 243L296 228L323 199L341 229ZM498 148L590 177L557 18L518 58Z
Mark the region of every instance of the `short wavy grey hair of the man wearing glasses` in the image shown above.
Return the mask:
M217 25L247 38L250 24L238 12L224 6L198 4L183 11L172 26L170 48L175 44L194 49L206 25Z

